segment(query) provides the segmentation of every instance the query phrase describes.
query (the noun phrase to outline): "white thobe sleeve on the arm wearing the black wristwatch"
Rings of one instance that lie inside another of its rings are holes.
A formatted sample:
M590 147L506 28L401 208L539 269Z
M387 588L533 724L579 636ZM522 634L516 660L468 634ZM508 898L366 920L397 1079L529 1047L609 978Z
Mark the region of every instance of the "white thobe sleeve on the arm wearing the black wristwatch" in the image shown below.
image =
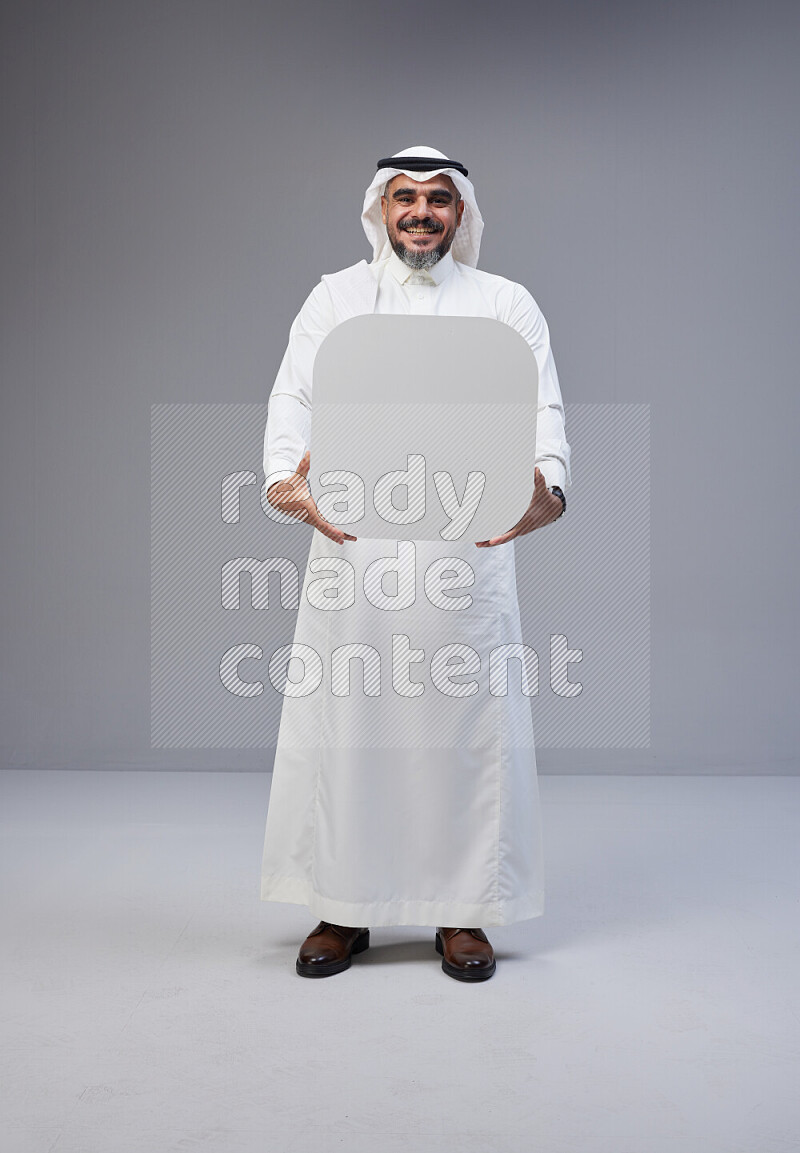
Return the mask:
M542 310L522 285L514 285L506 324L524 337L538 366L538 410L536 415L536 465L548 485L572 484L569 445L564 431L564 402L556 361L550 347L550 330Z

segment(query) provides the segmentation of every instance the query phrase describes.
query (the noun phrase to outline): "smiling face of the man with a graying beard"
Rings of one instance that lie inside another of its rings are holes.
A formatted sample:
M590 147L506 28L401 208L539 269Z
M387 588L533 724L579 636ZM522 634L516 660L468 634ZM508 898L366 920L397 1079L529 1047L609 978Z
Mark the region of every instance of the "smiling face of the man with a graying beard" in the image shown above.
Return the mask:
M463 201L450 176L420 181L400 173L380 197L380 216L403 264L430 269L451 249Z

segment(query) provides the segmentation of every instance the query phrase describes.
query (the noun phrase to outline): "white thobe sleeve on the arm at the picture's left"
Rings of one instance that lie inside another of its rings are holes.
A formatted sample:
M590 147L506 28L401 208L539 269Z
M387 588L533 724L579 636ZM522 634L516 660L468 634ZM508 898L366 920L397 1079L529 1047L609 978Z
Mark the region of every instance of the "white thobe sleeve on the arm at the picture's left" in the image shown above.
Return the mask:
M267 488L292 476L311 449L311 380L317 349L333 327L330 295L318 284L297 314L270 393L264 434Z

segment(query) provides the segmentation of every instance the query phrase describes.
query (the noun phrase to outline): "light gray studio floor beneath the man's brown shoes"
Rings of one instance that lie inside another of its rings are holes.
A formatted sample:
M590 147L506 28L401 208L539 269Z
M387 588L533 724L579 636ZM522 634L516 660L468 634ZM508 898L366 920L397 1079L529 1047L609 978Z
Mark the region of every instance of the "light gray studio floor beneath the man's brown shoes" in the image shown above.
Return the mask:
M800 1150L800 779L543 776L476 986L427 928L297 977L269 781L0 774L2 1153Z

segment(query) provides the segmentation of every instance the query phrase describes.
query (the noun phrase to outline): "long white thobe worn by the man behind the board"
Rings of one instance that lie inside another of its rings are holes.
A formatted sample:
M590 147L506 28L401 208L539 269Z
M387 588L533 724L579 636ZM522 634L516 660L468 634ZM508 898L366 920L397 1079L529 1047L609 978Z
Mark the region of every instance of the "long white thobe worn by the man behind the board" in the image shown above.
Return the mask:
M536 464L548 484L568 483L561 393L538 306L521 285L450 254L427 272L413 272L392 254L324 277L314 289L270 397L270 483L290 475L311 449L319 345L335 324L363 311L492 317L520 332L539 374ZM362 590L364 572L398 556L397 542L339 547L314 533L295 645L319 654L325 679L311 696L284 699L262 899L304 904L319 919L352 926L491 926L536 917L544 887L530 700L522 691L530 692L523 677L530 668L523 658L508 661L504 693L496 676L501 662L496 670L491 660L492 650L522 640L513 541L485 549L416 541L413 551L412 608L379 611ZM322 558L332 557L348 560L356 574L355 600L340 611L309 597L325 571ZM425 596L425 573L444 558L452 558L444 570L461 576L456 593L466 606L458 611ZM368 673L367 657L349 662L349 693L341 664L334 675L335 650L345 645L379 653L377 673L375 665ZM462 657L477 654L465 658L462 672L456 668L458 681L441 668L436 673L432 658L445 645L461 646ZM397 676L393 653L406 658ZM370 695L376 676L380 692Z

